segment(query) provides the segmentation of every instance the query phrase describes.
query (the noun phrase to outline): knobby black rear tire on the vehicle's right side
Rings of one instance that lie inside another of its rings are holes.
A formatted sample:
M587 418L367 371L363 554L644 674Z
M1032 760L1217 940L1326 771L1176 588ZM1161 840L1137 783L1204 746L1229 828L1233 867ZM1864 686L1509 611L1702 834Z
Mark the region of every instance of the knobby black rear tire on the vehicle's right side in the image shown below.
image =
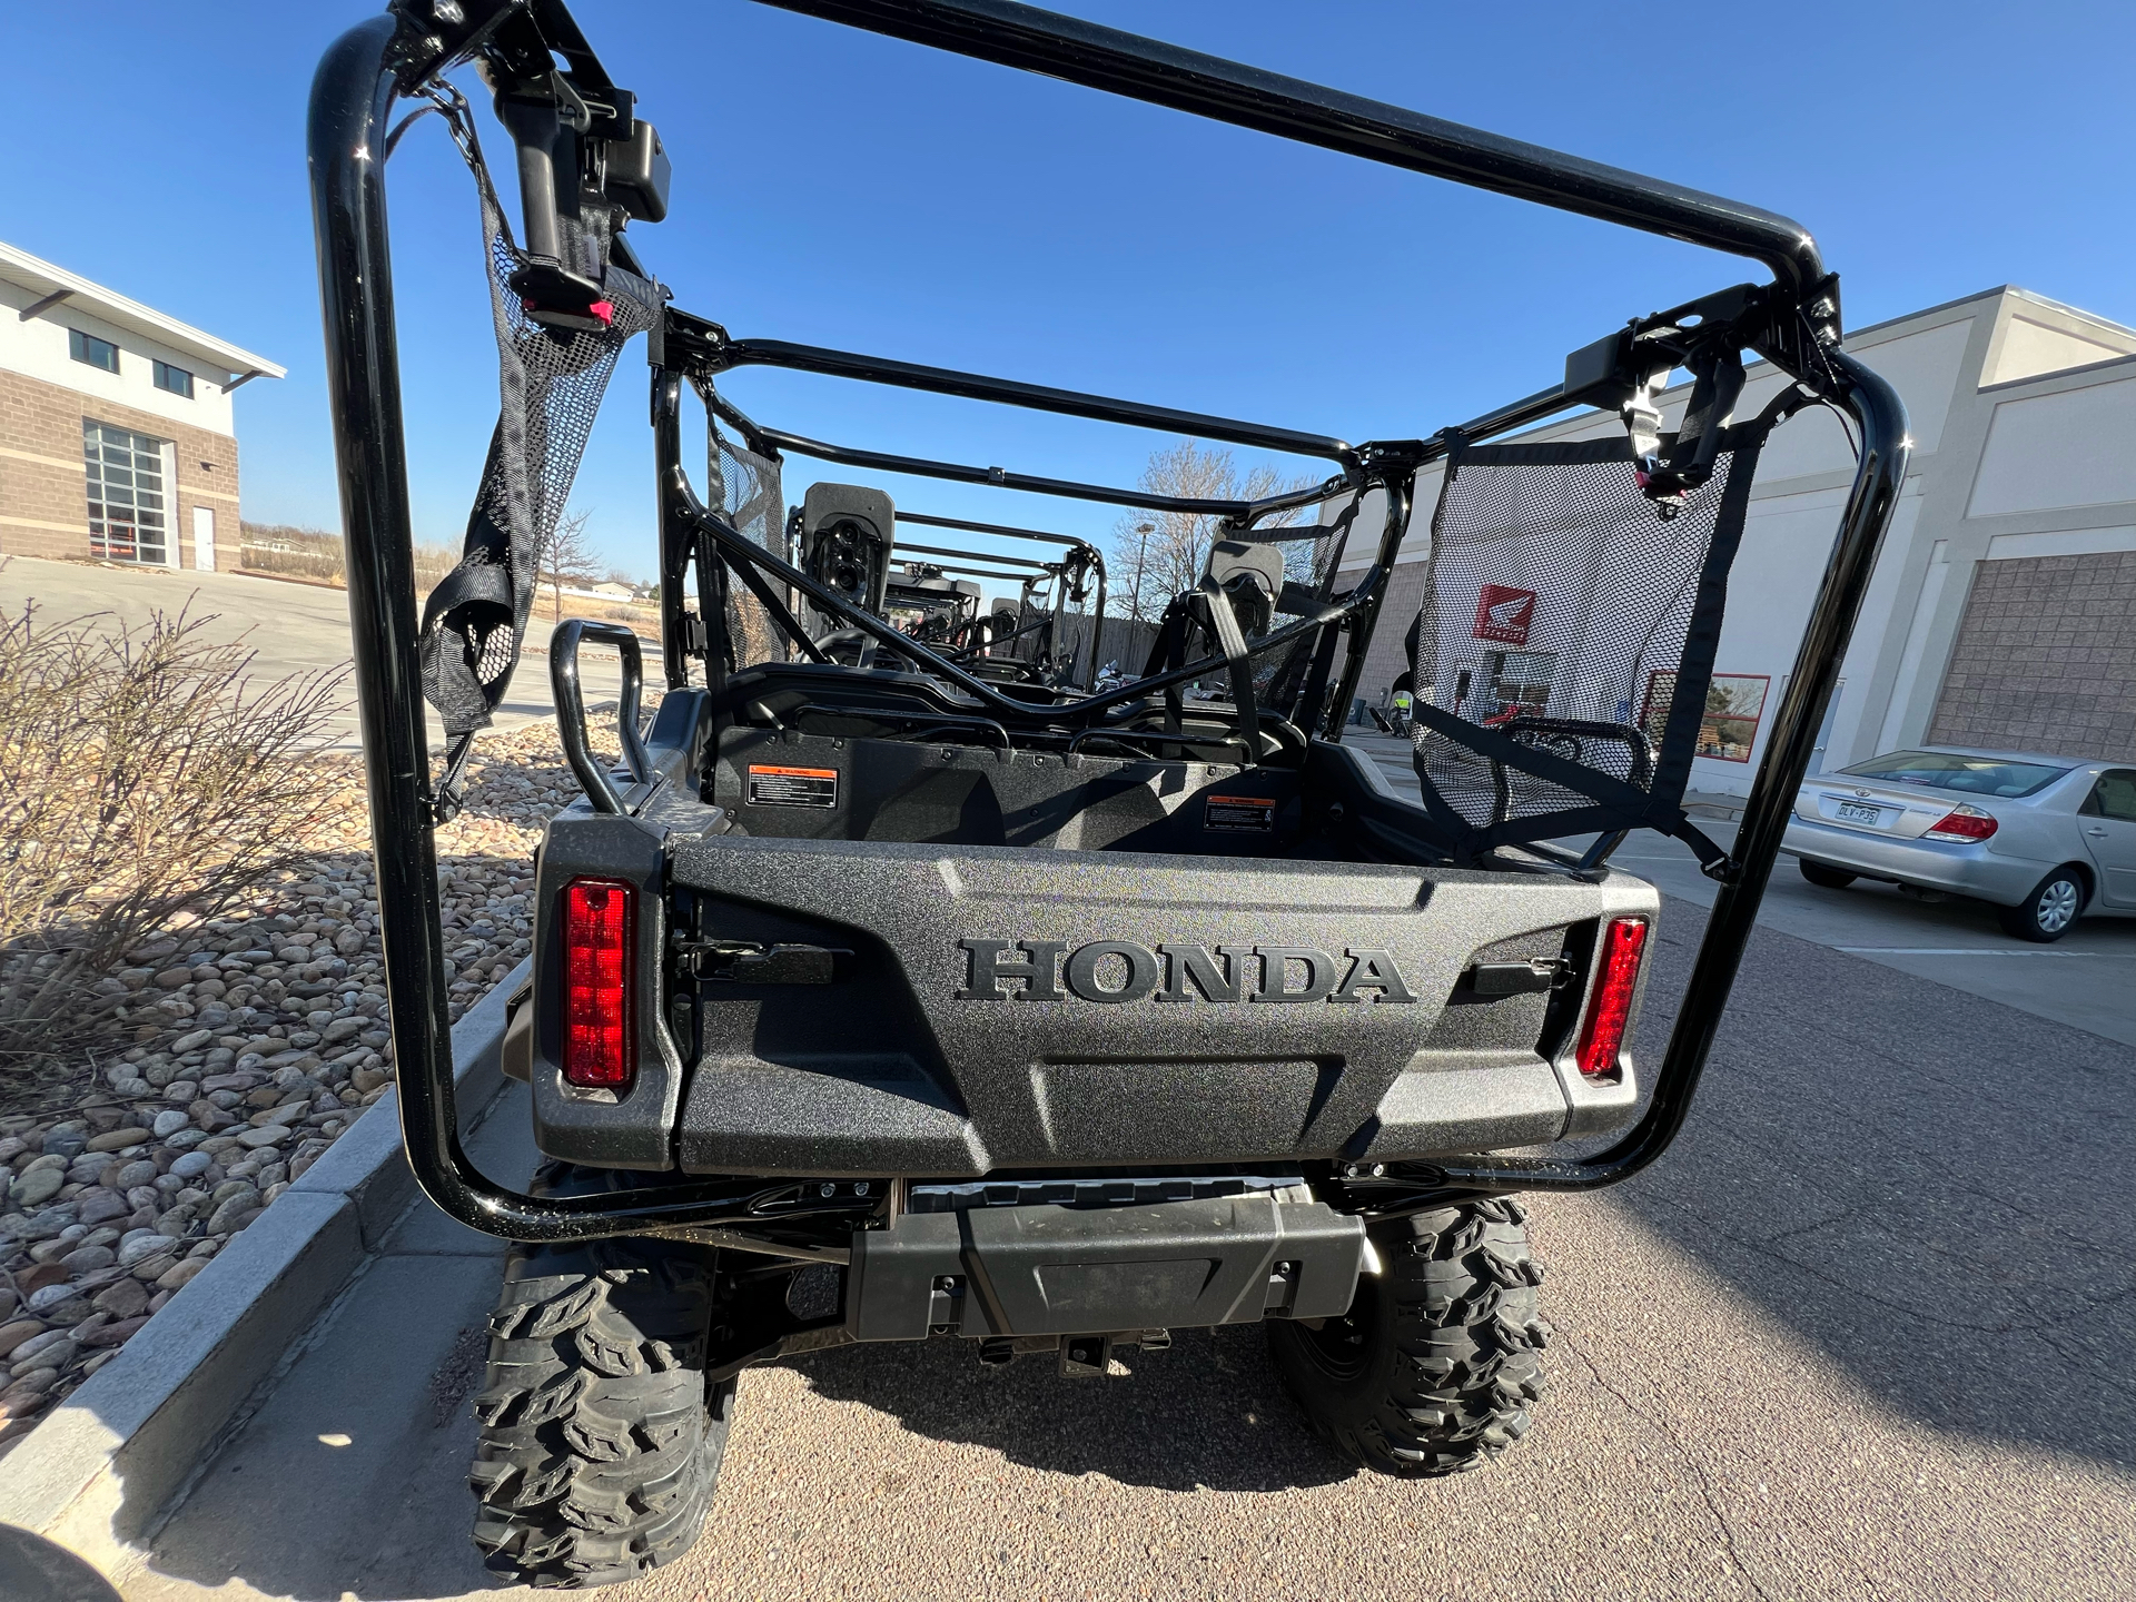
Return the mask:
M1344 1318L1275 1320L1269 1350L1320 1438L1380 1474L1480 1467L1527 1433L1542 1395L1542 1267L1512 1196L1371 1228L1382 1271Z

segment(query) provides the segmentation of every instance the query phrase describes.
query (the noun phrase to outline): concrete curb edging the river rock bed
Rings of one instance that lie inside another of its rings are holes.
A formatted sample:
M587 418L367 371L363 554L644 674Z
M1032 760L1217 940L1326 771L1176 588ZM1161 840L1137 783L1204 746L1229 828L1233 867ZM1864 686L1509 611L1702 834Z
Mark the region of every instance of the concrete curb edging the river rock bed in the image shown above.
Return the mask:
M504 1002L525 972L521 961L453 1027L461 1128L504 1087ZM0 1523L117 1574L288 1346L414 1198L399 1100L387 1091L0 1459Z

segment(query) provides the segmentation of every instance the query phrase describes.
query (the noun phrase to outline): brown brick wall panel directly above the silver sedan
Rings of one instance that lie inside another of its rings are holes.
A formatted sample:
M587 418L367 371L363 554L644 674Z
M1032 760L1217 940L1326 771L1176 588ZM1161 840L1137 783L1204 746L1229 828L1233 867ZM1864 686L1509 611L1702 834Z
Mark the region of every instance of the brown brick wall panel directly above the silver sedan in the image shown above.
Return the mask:
M1929 743L2136 756L2136 551L1976 564Z

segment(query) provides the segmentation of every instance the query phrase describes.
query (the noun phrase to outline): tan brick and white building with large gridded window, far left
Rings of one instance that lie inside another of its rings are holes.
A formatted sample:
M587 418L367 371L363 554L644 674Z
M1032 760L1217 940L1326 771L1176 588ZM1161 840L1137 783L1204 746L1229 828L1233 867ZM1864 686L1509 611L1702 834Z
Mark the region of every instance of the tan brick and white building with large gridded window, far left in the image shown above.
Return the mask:
M0 244L0 553L237 566L231 391L282 372Z

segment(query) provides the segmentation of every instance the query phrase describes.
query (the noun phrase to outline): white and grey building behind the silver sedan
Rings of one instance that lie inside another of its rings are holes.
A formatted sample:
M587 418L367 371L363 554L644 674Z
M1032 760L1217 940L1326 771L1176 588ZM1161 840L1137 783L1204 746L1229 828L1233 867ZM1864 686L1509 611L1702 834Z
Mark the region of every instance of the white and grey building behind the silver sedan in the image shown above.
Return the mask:
M2136 756L2136 329L2004 286L1850 331L1848 350L1905 399L1914 459L1813 771L1922 743ZM1737 417L1784 382L1766 363L1749 374ZM1668 393L1666 427L1685 397ZM1621 434L1613 412L1583 410L1519 438ZM1405 669L1440 474L1416 476L1358 686L1373 703ZM1700 790L1749 788L1852 478L1848 434L1820 408L1775 431L1758 464L1713 664L1741 716L1722 748L1700 750ZM1358 521L1378 517L1371 498ZM1367 557L1352 543L1350 564ZM1572 686L1555 677L1546 651L1478 643L1474 684L1499 705L1561 705Z

